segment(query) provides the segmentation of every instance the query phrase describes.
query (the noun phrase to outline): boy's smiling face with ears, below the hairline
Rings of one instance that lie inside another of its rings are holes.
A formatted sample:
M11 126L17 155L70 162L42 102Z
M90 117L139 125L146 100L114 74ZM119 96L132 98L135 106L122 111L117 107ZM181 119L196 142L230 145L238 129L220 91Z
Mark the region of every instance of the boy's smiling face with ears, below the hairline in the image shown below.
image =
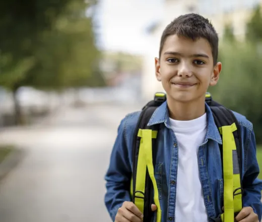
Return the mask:
M214 66L210 43L170 35L155 59L156 76L169 99L190 102L204 99L208 87L217 84L221 63Z

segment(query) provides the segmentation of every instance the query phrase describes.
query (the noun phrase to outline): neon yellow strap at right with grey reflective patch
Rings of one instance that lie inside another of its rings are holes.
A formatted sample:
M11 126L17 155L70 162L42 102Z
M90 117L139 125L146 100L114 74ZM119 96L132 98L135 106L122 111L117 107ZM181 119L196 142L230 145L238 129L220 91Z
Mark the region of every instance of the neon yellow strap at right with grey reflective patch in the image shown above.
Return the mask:
M219 128L223 138L223 174L224 174L224 213L223 222L234 222L234 213L242 209L242 193L240 170L238 165L236 144L233 132L237 130L235 123Z

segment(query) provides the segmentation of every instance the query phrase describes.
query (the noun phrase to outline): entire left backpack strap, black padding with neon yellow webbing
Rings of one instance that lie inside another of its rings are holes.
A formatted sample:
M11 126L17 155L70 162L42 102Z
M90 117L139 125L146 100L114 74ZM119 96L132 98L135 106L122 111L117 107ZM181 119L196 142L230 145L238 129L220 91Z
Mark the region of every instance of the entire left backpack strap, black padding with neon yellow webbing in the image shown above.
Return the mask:
M150 196L151 195L150 191L151 189L154 189L155 204L158 207L158 211L157 211L158 222L161 221L161 209L158 200L158 189L156 185L156 180L154 178L152 153L155 158L155 151L157 151L157 147L155 147L155 145L157 144L156 142L157 131L159 130L160 124L153 124L154 126L150 127L150 129L148 129L149 128L148 124L151 118L153 117L155 110L159 106L161 106L165 101L166 101L165 93L157 92L154 95L154 99L149 101L142 108L142 112L139 116L138 123L135 128L134 138L133 138L133 152L132 152L133 168L132 168L132 178L130 180L131 183L130 195L132 197L132 201L138 206L138 208L142 212L144 212L144 220L150 220L152 217L150 213L151 203L149 203L148 201L146 201L145 203L145 198L146 200L148 200L148 198L150 198L150 200L153 199L153 197L151 198ZM152 140L154 142L153 144L152 144ZM152 147L152 145L154 147ZM153 151L152 148L154 148ZM151 152L151 159L148 159L147 156L149 152Z

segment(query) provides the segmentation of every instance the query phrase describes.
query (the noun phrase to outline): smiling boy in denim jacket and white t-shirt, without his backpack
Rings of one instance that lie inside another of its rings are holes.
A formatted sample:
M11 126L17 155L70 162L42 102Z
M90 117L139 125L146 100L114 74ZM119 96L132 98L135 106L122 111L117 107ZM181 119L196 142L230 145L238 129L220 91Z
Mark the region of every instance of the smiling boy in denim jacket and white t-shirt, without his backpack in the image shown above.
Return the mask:
M219 80L222 64L217 59L218 35L202 16L182 15L164 30L155 68L167 100L149 122L162 125L155 165L161 221L215 221L223 212L222 140L205 103L208 87ZM143 221L142 212L129 194L133 134L139 115L132 113L121 121L105 177L105 204L115 222ZM244 207L235 220L257 222L262 214L262 183L257 179L254 132L245 117L234 115L240 125L244 153ZM156 205L152 204L152 210L157 210Z

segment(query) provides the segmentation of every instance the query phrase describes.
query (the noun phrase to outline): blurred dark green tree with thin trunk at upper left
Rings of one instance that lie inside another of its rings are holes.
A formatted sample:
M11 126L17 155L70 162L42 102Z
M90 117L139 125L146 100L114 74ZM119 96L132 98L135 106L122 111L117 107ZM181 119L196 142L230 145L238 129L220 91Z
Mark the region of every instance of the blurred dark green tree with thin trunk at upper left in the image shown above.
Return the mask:
M0 3L0 85L13 91L21 123L17 90L103 85L100 52L92 18L95 1L10 0ZM95 80L94 80L95 79Z

